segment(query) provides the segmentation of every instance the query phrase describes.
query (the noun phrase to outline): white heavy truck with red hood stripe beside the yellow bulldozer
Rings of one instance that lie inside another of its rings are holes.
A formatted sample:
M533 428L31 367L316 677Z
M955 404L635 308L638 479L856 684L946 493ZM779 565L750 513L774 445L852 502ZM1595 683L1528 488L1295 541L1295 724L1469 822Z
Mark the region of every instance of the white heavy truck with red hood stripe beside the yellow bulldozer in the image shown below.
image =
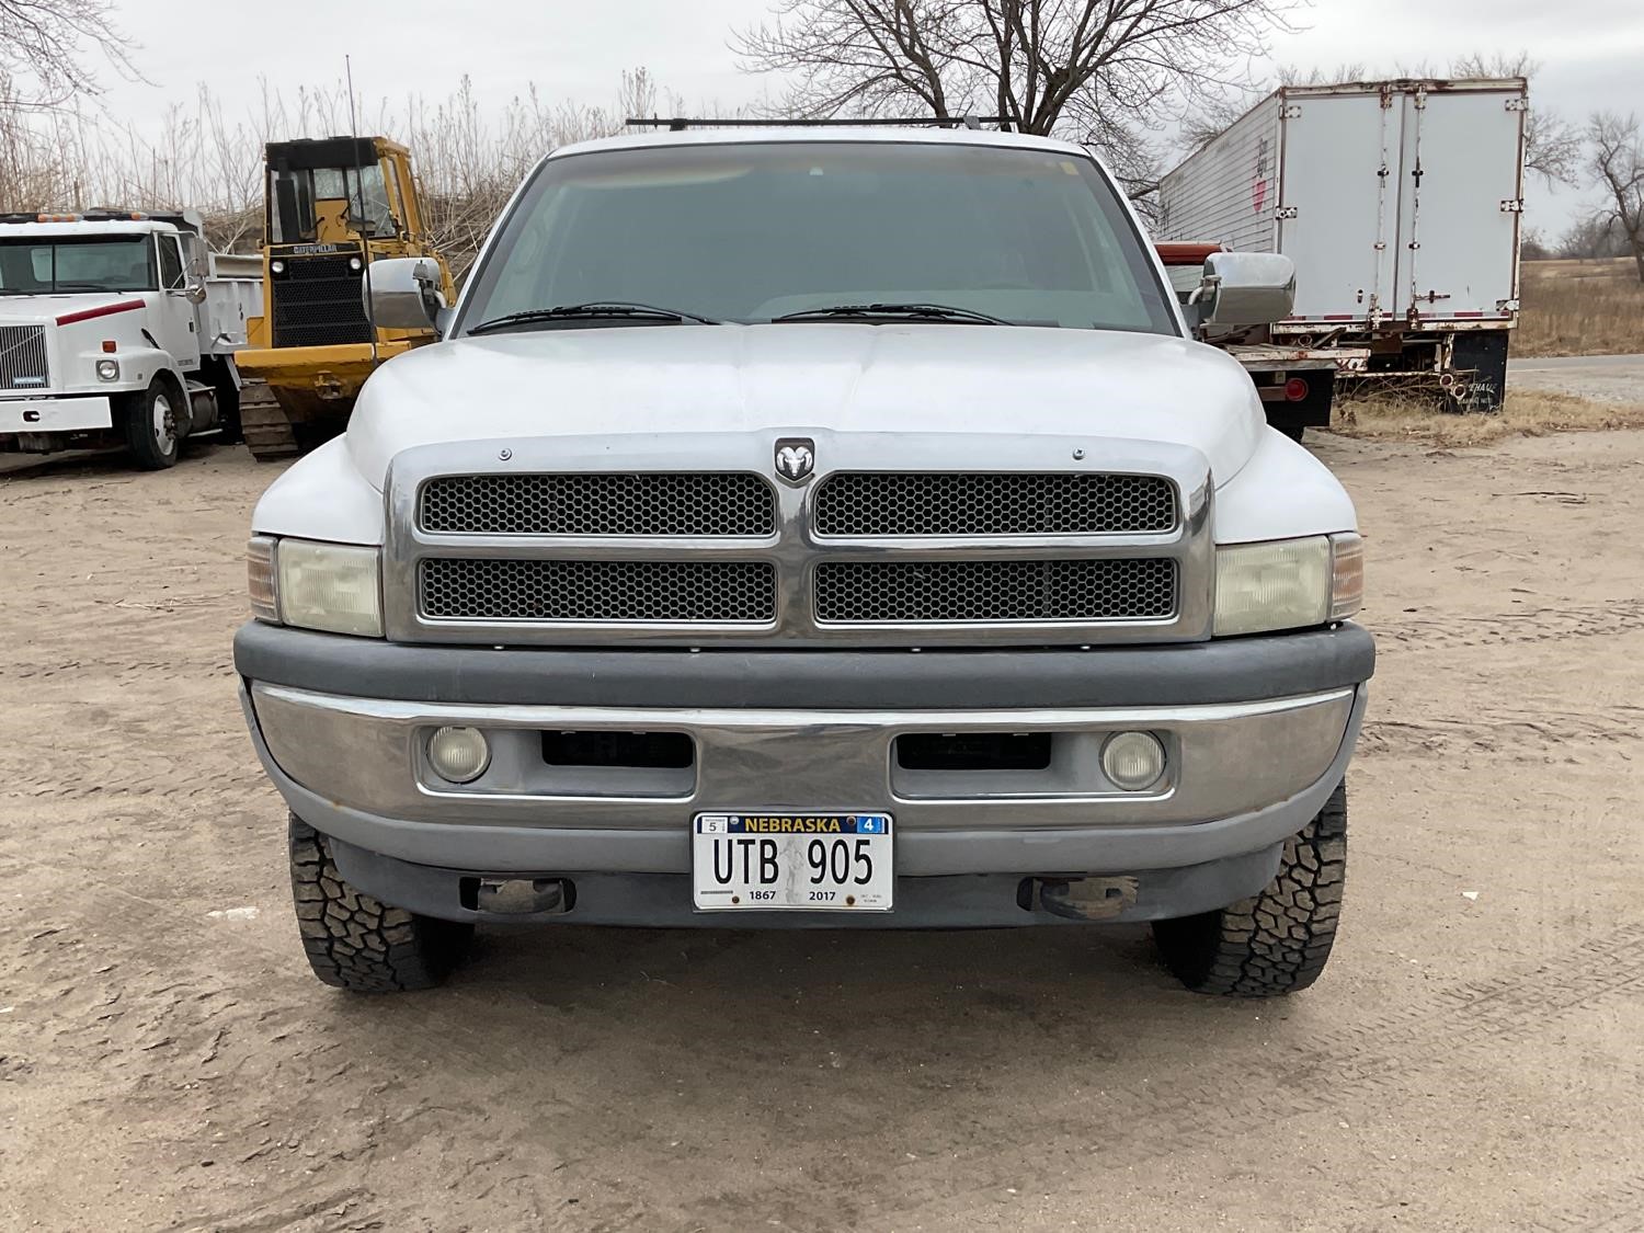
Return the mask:
M261 258L209 252L194 212L0 215L0 452L123 444L159 469L232 439L261 294Z

